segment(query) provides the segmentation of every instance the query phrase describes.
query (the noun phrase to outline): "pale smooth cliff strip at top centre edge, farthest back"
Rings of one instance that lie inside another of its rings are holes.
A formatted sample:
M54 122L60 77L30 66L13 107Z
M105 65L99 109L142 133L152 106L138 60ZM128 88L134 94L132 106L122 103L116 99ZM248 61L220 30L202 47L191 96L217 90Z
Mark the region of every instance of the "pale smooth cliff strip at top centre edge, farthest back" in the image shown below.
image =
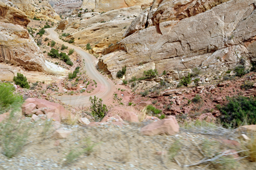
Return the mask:
M83 0L81 8L94 9L97 12L106 12L113 9L141 6L151 3L153 0Z

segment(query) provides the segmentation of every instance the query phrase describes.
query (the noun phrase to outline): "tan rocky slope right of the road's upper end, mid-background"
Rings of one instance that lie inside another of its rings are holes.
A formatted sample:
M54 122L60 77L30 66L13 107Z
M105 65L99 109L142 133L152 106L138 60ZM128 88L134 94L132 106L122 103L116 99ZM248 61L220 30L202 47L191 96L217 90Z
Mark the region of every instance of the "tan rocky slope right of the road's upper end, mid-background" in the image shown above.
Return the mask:
M80 18L61 20L57 29L70 33L75 44L86 46L90 43L96 53L122 39L125 28L129 27L133 19L139 15L139 6L112 10L106 13L86 12Z

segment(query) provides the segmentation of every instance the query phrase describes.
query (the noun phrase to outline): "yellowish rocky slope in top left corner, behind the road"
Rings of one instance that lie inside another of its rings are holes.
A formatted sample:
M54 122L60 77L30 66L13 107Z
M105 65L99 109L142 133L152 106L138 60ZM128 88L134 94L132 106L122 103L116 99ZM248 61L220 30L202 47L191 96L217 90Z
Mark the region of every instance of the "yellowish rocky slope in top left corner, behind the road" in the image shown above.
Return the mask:
M19 10L23 11L30 18L39 18L56 22L60 17L55 13L48 1L34 1L34 0L2 0L4 3L11 3Z

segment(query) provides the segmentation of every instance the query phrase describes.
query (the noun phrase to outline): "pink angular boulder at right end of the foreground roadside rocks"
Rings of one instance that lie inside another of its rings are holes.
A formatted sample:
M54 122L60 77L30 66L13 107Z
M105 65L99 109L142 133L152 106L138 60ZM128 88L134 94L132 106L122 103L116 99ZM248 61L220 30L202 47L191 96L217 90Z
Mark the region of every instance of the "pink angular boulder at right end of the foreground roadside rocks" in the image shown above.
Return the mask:
M146 136L155 135L175 135L179 132L180 126L174 116L168 116L167 119L155 121L144 126L140 132Z

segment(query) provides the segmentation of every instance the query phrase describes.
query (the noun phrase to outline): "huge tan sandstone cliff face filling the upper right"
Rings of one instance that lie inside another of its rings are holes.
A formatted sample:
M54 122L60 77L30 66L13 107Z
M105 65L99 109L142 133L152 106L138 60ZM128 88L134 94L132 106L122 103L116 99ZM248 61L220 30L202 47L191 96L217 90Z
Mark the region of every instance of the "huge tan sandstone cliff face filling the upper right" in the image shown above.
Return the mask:
M135 33L126 31L124 35L132 35L105 49L98 66L113 78L126 66L126 78L131 78L149 69L161 73L197 67L221 72L242 58L248 65L249 59L256 60L254 4L254 0L155 0L144 24L148 26L137 31L144 19L136 18L129 28Z

